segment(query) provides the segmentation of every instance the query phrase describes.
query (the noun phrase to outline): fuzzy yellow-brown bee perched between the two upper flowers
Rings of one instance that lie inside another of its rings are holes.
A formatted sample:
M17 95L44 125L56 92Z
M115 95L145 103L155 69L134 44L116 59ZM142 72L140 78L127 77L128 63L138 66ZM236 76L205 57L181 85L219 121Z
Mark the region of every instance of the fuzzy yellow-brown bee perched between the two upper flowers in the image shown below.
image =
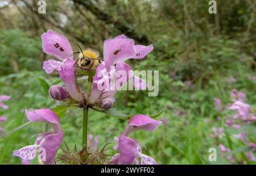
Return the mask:
M75 63L77 68L82 70L95 70L97 66L101 64L102 59L98 58L99 53L97 51L94 51L93 49L85 49L84 51L82 51L81 48L80 51L75 52L79 53L79 57L77 58Z

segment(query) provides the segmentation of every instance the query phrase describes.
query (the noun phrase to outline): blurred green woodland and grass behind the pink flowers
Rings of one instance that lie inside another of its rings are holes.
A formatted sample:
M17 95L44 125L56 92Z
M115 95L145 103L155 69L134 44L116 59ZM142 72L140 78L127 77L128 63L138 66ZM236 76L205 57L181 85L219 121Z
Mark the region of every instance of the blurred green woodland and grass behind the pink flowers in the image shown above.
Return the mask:
M61 80L57 73L48 75L42 69L43 61L52 58L42 51L43 32L59 32L74 51L79 43L82 48L96 49L101 57L104 40L124 33L137 44L154 45L146 58L126 62L134 70L159 70L159 95L119 91L114 107L146 115L167 107L159 119L168 124L154 133L133 133L146 146L143 153L159 164L230 164L219 151L217 162L208 160L210 147L217 149L218 144L230 142L221 139L216 143L209 137L212 127L225 127L218 122L218 116L224 115L214 110L213 99L228 104L230 91L237 89L246 93L252 108L256 105L256 1L217 0L217 14L209 14L208 2L56 0L46 1L46 14L39 14L36 0L0 0L0 94L11 96L5 102L9 110L0 109L0 115L7 116L1 126L7 132L25 123L25 109L56 106L47 86L61 84ZM76 144L81 149L82 110L69 110L60 121L69 148ZM113 143L126 123L89 112L89 133L101 136L101 147ZM32 136L44 128L31 124L0 139L0 164L20 164L13 150L33 144ZM255 141L255 130L252 135ZM244 145L231 141L234 148ZM244 152L234 155L236 163L243 164Z

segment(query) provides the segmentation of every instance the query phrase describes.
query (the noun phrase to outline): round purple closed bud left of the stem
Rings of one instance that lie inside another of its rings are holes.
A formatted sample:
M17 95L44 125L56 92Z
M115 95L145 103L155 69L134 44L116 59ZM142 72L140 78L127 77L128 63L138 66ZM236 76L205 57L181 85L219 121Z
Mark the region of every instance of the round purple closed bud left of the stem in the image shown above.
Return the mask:
M53 85L49 88L49 95L56 100L64 101L69 97L68 91L65 87L60 85Z

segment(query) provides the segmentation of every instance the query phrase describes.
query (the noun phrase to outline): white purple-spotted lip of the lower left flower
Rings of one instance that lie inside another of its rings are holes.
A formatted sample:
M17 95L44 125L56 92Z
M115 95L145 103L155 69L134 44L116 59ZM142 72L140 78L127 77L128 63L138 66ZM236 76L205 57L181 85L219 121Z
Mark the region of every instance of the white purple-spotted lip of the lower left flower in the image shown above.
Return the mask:
M28 145L24 146L19 150L14 150L13 155L16 157L20 157L22 160L32 160L35 158L37 152L36 145Z

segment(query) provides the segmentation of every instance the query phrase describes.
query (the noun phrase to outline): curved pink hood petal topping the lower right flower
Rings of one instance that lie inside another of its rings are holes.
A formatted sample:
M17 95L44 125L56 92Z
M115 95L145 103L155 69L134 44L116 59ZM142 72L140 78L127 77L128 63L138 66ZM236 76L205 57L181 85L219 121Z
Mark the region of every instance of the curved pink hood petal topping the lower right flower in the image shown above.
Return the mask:
M131 132L137 131L138 129L154 131L155 128L158 127L161 123L161 121L156 121L143 114L135 115L133 118L130 119L123 134L125 136L129 136Z

